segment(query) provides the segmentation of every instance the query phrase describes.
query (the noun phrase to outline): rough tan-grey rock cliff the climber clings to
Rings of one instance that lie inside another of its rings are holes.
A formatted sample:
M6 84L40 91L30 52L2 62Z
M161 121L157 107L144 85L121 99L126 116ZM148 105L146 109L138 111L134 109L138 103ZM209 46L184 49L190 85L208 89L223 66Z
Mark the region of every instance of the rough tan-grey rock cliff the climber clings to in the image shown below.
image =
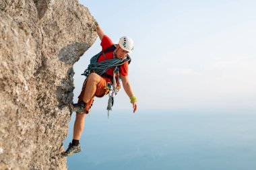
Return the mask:
M73 64L96 35L77 0L0 1L0 169L67 169Z

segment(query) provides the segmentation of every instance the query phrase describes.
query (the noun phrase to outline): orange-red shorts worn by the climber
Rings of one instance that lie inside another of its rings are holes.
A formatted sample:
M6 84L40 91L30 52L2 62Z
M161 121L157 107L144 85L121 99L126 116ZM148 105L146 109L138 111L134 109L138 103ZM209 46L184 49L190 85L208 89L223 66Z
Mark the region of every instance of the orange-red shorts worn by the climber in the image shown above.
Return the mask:
M82 91L81 91L80 95L78 96L77 103L80 103L83 100L84 92L86 91L86 83L87 83L87 79L84 81ZM105 81L105 79L100 77L100 83L98 83L98 85L96 87L96 92L95 92L94 96L103 97L107 93L108 93L108 88L106 87L106 81ZM86 105L86 110L84 111L84 114L88 114L90 112L90 108L92 107L93 102L94 102L94 97L92 97L92 99L90 99L90 101L88 101L88 103Z

